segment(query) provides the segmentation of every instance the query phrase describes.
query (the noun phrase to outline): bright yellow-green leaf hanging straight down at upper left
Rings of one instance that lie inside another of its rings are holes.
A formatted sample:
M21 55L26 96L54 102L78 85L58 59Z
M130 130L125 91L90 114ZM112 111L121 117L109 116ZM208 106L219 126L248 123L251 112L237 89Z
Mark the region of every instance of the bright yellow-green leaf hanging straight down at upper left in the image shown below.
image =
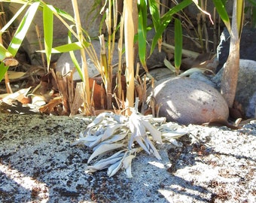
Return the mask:
M47 68L50 67L51 50L53 47L53 11L51 5L44 5L43 20L44 20L44 47L47 59Z

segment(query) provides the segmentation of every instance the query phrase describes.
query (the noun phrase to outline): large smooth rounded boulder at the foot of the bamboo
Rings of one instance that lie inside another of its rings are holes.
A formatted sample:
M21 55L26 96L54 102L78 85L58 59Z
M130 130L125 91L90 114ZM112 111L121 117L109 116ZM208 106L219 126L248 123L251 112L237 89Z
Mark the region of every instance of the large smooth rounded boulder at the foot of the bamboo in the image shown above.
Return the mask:
M184 125L202 124L213 119L227 120L229 109L218 90L187 77L174 77L158 82L154 89L159 116Z

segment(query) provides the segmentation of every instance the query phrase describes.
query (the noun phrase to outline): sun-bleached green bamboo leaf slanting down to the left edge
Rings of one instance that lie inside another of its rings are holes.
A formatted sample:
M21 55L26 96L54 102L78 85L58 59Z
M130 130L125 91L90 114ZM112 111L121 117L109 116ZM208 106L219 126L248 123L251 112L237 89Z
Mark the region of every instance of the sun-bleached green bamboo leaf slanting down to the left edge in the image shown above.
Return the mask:
M26 36L26 32L28 32L29 26L34 19L35 13L38 10L40 2L33 3L26 14L24 15L23 19L20 22L16 32L14 33L14 37L11 39L11 43L9 44L8 51L11 53L12 56L15 56L17 51L20 48L20 45L23 42L23 39ZM0 81L4 78L5 72L8 70L8 66L5 66L4 63L0 64Z

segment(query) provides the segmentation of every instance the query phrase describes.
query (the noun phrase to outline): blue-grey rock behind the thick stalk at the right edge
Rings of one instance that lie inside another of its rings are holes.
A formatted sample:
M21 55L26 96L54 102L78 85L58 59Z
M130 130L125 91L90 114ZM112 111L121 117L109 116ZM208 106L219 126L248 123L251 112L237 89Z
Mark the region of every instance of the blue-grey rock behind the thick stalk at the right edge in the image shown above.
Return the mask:
M256 61L240 59L239 61L239 78L236 87L235 100L242 104L246 117L255 117L255 102L253 95L256 92ZM218 85L218 89L221 88L222 72L218 71L218 74L212 78L212 81Z

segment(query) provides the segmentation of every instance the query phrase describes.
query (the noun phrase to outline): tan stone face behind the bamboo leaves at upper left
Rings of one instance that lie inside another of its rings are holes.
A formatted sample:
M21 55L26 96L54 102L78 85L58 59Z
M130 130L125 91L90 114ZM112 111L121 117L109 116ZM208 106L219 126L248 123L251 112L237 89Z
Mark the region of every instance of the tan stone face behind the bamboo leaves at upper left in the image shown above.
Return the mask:
M48 4L55 6L56 8L60 8L66 13L72 15L74 17L74 11L72 7L72 1L70 0L49 0L47 1ZM78 8L81 17L81 25L83 26L84 30L90 35L90 37L95 37L99 33L99 23L100 19L96 17L96 12L100 10L97 8L93 10L93 5L95 1L87 0L78 0ZM12 14L16 14L17 10L22 5L16 3L8 3L8 8L11 10ZM16 23L22 19L23 15L18 17ZM42 43L44 43L44 29L43 29L43 20L42 20L42 11L40 9L35 14L35 18L33 20L32 26L29 28L29 32L26 35L25 41L23 41L23 49L26 50L26 53L29 55L29 59L31 60L32 64L40 64L41 63L41 54L36 53L37 50L40 50L38 44L38 37L35 31L35 25L38 25L39 32L41 35ZM57 17L53 18L53 47L59 46L61 44L68 43L68 29L63 23L57 19ZM66 20L66 23L69 26L74 25L73 22ZM18 24L17 24L18 25ZM58 58L58 54L53 54L53 61Z

